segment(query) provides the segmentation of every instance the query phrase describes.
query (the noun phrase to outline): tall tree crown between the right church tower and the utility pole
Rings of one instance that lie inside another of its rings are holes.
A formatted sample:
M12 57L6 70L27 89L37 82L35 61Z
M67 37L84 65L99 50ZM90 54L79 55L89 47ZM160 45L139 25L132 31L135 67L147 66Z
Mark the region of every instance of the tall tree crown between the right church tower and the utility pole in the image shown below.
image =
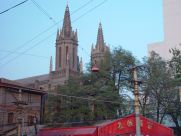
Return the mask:
M135 66L137 63L136 58L131 52L124 50L122 47L115 48L111 58L111 72L112 78L117 91L123 91L124 88L130 89L128 80L132 75L129 72L129 68Z

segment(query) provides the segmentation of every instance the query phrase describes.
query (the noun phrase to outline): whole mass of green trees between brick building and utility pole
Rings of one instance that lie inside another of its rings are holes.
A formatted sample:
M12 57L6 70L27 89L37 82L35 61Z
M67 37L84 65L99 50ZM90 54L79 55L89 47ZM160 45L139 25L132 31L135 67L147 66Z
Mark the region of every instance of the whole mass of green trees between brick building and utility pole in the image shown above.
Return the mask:
M119 94L122 84L117 75L122 74L123 67L134 64L132 54L121 47L113 54L108 53L99 72L71 77L66 85L54 90L59 95L49 95L46 121L102 120L117 117L117 111L122 115L129 113L126 111L130 108L127 99Z

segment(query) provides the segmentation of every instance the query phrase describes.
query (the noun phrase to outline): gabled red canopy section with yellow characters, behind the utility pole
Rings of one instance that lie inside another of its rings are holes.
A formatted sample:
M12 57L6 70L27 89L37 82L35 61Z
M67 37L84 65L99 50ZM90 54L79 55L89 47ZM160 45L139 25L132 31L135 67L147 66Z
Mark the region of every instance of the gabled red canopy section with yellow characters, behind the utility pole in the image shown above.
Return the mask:
M173 130L154 122L146 117L140 115L141 121L141 134L149 136L173 136ZM136 133L135 114L113 120L110 123L102 123L99 125L100 136L108 134L131 134Z

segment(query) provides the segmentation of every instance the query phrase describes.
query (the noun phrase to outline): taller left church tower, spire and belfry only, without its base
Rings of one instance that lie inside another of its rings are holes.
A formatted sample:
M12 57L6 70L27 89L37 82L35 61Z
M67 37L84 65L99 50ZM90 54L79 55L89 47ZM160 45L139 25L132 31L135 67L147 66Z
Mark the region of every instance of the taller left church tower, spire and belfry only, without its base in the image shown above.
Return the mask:
M72 30L70 12L67 5L63 27L60 31L57 30L55 71L69 70L69 72L78 72L77 47L77 30Z

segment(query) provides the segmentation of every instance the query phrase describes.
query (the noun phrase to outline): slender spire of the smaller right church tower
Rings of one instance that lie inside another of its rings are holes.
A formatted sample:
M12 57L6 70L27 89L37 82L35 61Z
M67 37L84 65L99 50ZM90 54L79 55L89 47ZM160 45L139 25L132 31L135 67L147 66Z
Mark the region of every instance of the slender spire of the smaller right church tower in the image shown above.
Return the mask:
M99 49L99 50L103 50L103 46L104 46L103 30L102 30L101 23L99 23L96 48Z

